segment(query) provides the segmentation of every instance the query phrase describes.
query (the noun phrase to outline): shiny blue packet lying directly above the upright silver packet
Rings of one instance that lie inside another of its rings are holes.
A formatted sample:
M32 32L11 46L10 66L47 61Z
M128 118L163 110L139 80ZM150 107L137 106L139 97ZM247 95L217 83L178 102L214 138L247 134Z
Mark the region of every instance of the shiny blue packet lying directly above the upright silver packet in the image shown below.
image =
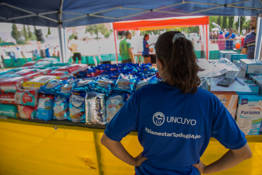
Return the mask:
M92 91L97 91L108 96L115 85L115 80L107 79L105 77L98 77L91 85Z

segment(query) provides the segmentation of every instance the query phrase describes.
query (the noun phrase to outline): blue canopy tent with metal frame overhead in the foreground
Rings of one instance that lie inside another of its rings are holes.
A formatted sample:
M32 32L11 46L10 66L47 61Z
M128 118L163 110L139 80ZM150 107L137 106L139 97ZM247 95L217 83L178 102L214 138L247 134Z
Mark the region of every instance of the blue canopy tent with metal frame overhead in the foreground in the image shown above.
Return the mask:
M59 28L65 62L64 28L105 22L178 16L258 16L256 57L261 60L262 0L3 0L0 22Z

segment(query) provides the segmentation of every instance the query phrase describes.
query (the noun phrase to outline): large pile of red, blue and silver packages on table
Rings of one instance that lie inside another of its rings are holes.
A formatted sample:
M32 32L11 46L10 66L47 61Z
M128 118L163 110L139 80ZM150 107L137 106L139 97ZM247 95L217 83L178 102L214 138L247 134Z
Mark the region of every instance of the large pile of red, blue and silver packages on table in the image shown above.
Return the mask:
M135 90L161 81L151 64L57 66L44 61L43 65L39 62L27 65L26 69L8 74L7 80L17 82L15 88L10 85L12 91L0 83L1 105L12 105L16 109L12 115L8 115L9 112L0 115L106 125ZM33 72L13 77L14 73L28 69Z

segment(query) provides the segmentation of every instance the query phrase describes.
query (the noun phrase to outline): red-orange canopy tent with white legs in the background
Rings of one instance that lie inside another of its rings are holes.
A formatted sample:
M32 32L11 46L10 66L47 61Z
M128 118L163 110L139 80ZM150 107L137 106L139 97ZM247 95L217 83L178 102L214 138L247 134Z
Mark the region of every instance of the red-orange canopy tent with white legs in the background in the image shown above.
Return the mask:
M209 42L209 16L182 16L176 18L158 18L149 20L134 20L114 22L113 29L115 35L115 49L117 31L125 30L158 30L174 27L192 27L199 26L199 31L206 58L208 59L208 42ZM116 52L117 53L117 52ZM118 61L118 56L116 54Z

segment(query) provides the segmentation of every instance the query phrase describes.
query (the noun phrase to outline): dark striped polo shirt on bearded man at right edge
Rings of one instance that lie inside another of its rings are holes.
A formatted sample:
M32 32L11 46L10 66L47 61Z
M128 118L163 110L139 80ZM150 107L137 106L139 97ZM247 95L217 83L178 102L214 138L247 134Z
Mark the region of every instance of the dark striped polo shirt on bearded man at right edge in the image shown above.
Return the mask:
M255 32L248 33L244 40L243 48L247 48L246 58L255 58L256 34Z

